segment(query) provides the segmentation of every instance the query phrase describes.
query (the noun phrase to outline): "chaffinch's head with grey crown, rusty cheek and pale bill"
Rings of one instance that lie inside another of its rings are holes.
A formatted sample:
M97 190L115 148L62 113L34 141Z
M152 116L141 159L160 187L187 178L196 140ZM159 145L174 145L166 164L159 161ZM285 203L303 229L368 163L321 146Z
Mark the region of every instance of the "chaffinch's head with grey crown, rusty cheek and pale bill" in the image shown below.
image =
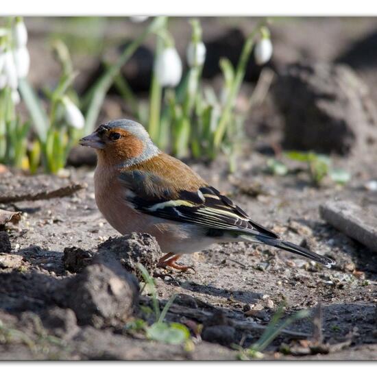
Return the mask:
M95 148L99 160L124 166L143 162L159 153L143 125L117 119L100 125L80 140L80 145Z

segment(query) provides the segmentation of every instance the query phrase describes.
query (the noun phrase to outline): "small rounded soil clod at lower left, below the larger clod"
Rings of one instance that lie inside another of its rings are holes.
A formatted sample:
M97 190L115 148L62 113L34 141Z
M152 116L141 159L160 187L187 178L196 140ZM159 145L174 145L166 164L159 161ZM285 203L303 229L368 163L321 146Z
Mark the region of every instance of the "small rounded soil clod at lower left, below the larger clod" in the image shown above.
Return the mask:
M79 331L75 313L68 308L49 308L42 313L41 320L47 330L64 340L72 339Z

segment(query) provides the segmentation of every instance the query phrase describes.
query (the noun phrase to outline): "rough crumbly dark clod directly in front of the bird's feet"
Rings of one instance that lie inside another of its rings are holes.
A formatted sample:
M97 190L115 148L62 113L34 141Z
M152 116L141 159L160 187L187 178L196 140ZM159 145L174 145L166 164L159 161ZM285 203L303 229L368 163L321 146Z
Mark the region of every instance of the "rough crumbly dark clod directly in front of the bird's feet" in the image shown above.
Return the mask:
M110 238L98 246L94 262L106 263L110 258L117 259L125 269L142 280L137 263L141 263L152 274L162 257L156 239L146 233L132 233L126 236Z

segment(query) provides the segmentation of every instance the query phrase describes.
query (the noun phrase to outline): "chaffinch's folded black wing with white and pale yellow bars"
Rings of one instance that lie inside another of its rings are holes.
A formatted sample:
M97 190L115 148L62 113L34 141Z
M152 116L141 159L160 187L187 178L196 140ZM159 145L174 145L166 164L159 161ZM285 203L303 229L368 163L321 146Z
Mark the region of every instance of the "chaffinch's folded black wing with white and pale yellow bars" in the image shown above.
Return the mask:
M197 224L208 228L212 235L230 231L279 238L211 186L199 187L197 191L174 191L167 178L140 170L121 173L119 180L127 202L148 215Z

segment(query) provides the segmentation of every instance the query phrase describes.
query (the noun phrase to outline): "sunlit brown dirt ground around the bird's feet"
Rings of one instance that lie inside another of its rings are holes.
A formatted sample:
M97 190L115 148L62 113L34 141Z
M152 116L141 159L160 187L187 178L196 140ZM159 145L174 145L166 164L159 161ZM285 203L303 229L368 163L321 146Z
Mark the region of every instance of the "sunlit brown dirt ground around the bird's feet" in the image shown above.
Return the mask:
M287 315L321 303L324 343L343 345L328 354L284 356L278 352L282 343L293 350L300 345L297 335L285 334L269 346L267 358L375 359L377 255L324 223L319 218L318 207L335 196L356 202L367 200L376 205L376 194L372 197L356 182L343 190L332 186L313 189L305 182L305 176L272 177L258 169L263 159L265 156L255 152L241 165L237 175L243 177L242 193L236 176L224 179L227 177L225 171L221 173L220 162L215 169L204 165L193 167L210 184L232 195L253 219L290 241L304 242L319 254L330 256L337 262L335 267L313 267L289 253L259 245L216 245L211 250L182 258L183 263L193 265L195 273L171 272L171 276L156 278L156 284L162 302L173 293L178 294L169 320L191 319L199 324L215 321L216 326L234 328L230 334L221 332L221 337L208 335L209 341L226 344L226 347L202 341L191 352L171 345L155 348L151 341L120 335L119 326L100 330L90 326L77 328L73 320L65 325L64 333L73 327L75 335L64 347L43 340L47 345L36 352L23 342L1 342L1 358L233 359L237 352L231 345L241 343L247 347L254 343L261 334L255 327L268 324L284 300ZM22 263L13 269L0 270L0 320L5 326L12 327L13 323L14 328L25 333L38 332L28 318L34 318L33 314L43 317L47 306L55 307L49 302L49 289L71 276L62 261L64 248L77 246L95 252L99 243L109 236L119 235L96 208L91 170L71 169L69 179L45 175L30 178L8 173L2 176L0 186L5 195L40 191L41 187L55 189L69 180L86 183L88 187L71 197L20 202L16 207L2 205L23 212L21 222L8 230L12 254L23 256ZM246 195L245 187L253 188L257 182L262 193L257 197ZM211 317L214 313L215 319ZM299 321L289 330L302 333L298 338L313 337L311 319Z

